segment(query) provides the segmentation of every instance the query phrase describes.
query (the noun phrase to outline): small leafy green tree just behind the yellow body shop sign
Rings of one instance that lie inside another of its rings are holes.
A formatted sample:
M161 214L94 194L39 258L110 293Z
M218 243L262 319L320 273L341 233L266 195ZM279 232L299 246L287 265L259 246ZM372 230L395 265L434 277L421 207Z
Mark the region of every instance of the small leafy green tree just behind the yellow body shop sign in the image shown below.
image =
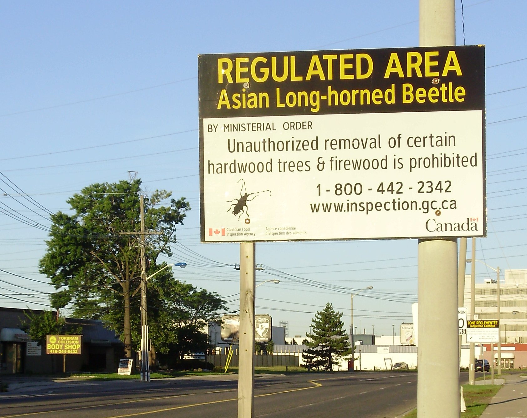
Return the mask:
M66 324L66 319L51 310L42 313L24 312L22 327L38 345L45 345L46 335L82 334L82 327Z

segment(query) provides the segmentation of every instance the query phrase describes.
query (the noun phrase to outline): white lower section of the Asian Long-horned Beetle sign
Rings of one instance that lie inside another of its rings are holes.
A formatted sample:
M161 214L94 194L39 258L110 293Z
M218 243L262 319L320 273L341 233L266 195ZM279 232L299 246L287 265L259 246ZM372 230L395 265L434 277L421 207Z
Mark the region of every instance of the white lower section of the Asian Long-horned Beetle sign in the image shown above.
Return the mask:
M482 236L481 120L481 111L204 119L206 240ZM303 129L290 130L296 123Z

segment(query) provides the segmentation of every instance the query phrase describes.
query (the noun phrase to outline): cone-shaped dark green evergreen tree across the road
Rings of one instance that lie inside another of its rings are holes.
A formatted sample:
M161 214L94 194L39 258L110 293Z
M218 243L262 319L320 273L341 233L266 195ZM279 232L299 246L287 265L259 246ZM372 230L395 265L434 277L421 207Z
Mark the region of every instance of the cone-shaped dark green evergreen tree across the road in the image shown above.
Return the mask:
M333 371L333 365L353 354L348 336L342 322L342 313L335 312L333 305L327 303L324 310L315 314L311 320L313 332L306 336L307 350L302 358L308 369L322 368Z

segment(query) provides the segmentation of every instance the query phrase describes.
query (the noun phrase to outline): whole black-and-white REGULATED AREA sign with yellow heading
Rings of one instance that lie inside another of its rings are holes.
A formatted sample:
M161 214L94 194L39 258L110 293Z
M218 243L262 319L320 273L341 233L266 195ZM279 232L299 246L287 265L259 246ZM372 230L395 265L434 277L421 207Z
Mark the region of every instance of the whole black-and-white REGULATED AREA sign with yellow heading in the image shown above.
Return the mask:
M199 56L202 242L482 237L483 46Z

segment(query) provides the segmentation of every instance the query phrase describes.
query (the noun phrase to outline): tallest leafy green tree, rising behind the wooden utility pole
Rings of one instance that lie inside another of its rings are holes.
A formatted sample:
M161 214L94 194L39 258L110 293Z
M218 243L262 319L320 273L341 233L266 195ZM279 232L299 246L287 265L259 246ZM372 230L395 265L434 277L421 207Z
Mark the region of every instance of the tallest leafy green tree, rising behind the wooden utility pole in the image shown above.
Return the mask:
M51 279L58 291L52 295L53 308L72 305L73 316L102 319L120 332L126 357L132 356L132 308L139 309L141 263L138 236L122 232L140 230L141 180L96 183L67 200L72 214L51 216L47 251L40 260L40 272ZM158 234L145 237L147 276L160 269L159 255L172 255L176 226L190 210L185 198L160 203L170 192L154 191L144 198L145 229ZM170 269L149 280L157 287L171 277Z

